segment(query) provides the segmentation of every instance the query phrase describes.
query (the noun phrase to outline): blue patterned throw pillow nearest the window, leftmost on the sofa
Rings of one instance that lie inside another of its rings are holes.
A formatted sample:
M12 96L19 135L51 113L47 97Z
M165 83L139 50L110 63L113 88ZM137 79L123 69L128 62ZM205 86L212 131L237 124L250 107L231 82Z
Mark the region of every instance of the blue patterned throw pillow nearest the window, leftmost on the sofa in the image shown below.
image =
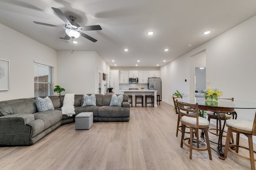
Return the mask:
M38 112L54 110L52 100L47 96L46 98L36 98L36 108Z

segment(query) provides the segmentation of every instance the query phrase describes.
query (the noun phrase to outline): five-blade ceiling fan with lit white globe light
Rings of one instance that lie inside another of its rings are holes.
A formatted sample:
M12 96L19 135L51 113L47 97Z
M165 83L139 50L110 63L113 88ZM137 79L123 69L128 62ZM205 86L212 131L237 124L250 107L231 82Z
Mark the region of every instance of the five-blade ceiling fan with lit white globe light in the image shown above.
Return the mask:
M78 38L81 35L82 37L87 38L92 42L97 41L96 39L90 37L89 35L83 33L82 31L102 30L100 25L89 25L89 26L80 27L80 25L78 23L75 23L76 17L69 16L69 18L71 20L71 21L69 21L60 9L53 8L53 7L52 7L52 9L54 10L54 12L56 12L56 14L60 17L60 19L62 19L65 22L65 24L66 24L65 27L58 26L58 25L52 25L52 24L48 24L48 23L37 22L37 21L33 21L33 22L36 24L40 24L40 25L47 25L47 26L51 26L51 27L65 29L66 36L63 38L65 40L69 40L71 37Z

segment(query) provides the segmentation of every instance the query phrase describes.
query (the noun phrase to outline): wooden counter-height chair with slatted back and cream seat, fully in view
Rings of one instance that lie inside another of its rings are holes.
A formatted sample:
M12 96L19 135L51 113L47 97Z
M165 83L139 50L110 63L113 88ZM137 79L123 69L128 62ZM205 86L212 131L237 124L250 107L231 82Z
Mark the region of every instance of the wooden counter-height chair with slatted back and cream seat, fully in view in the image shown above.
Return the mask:
M183 144L186 145L187 147L190 148L190 154L189 158L192 159L192 150L199 150L199 151L205 151L208 150L209 158L212 160L212 153L211 153L211 148L210 148L210 141L209 141L209 136L208 136L208 127L209 127L209 121L205 119L204 117L200 117L198 115L198 103L196 104L187 104L187 103L182 103L177 102L177 107L178 107L178 113L180 116L180 122L182 123L182 137L181 137L181 143L180 147L183 147ZM194 114L188 114L194 113ZM188 126L190 128L190 138L185 138L185 128ZM205 131L205 140L206 143L202 140L199 139L199 133L198 129L202 129ZM194 138L193 130L196 131L196 138ZM188 142L186 142L188 140ZM193 145L193 141L196 141L196 146ZM200 147L200 145L204 145L204 147Z

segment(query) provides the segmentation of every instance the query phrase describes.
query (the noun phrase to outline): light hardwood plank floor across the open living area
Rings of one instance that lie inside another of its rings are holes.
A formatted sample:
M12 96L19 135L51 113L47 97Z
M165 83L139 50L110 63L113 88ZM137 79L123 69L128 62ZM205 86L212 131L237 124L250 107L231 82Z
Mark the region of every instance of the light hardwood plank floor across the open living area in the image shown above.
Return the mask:
M189 148L180 147L181 133L176 137L176 121L173 107L161 102L131 107L129 122L94 122L90 130L61 125L34 145L0 147L0 170L250 169L249 160L230 152L220 160L212 150L210 160L207 151L193 150L190 160Z

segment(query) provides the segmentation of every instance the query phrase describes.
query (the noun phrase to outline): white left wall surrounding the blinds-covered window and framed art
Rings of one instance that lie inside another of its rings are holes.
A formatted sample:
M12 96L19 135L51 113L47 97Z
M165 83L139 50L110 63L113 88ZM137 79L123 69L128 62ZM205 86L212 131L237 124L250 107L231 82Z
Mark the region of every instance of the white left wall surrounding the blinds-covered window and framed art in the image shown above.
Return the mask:
M54 66L57 82L56 51L0 24L0 59L10 61L8 91L0 91L0 101L34 97L34 60Z

